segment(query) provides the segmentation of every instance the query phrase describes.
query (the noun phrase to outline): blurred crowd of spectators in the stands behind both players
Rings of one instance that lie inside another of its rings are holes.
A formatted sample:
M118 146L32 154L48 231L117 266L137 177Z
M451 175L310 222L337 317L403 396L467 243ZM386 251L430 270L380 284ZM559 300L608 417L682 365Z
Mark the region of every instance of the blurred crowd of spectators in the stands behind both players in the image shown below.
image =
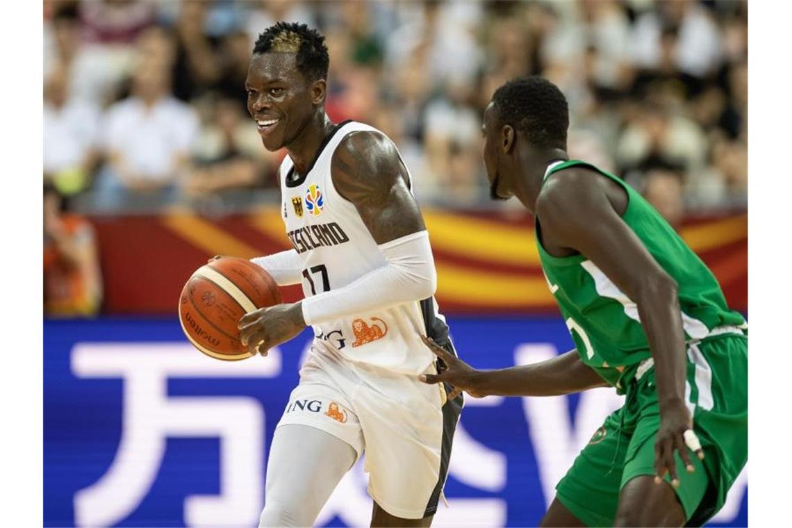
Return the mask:
M747 19L731 0L45 0L44 182L71 213L277 203L284 152L244 81L284 20L326 36L329 116L389 135L422 203L488 207L483 108L542 74L569 99L570 156L676 224L745 207Z

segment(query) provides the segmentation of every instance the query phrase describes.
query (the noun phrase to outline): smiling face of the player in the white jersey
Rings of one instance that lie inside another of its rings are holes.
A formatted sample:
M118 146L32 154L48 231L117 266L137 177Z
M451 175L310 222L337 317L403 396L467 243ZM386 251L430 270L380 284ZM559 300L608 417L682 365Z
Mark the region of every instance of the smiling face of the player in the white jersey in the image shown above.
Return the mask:
M317 112L324 112L326 81L308 82L291 52L253 54L245 81L250 116L261 142L275 151L298 139Z

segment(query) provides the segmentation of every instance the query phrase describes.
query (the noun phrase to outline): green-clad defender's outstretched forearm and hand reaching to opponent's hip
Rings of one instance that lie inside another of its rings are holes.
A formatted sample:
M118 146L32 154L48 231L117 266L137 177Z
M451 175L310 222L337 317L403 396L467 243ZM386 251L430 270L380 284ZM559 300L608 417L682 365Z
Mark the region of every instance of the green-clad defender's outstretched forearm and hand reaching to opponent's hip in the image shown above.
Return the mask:
M429 350L443 360L446 368L440 374L421 375L421 381L448 383L473 397L561 396L607 386L599 374L581 361L575 349L532 365L476 370L428 337L422 339Z

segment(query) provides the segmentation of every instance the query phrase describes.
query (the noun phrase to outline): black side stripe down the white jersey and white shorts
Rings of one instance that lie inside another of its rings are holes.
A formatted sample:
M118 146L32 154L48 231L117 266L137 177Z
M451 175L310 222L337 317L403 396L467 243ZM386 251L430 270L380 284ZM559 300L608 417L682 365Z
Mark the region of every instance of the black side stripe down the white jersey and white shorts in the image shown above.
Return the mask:
M433 298L425 298L421 301L421 314L424 317L424 325L426 327L426 335L431 337L436 344L445 348L449 353L457 355L454 350L454 345L451 344L451 339L448 335L448 325L446 325L440 317L435 313L435 306ZM445 368L445 365L440 359L436 362L437 371ZM443 384L446 395L451 392L451 386L446 383ZM424 517L435 515L437 511L437 502L440 500L440 492L443 491L443 486L448 476L448 462L451 460L451 444L454 442L454 431L456 431L456 424L459 422L459 414L462 412L463 405L462 393L455 397L453 400L446 401L443 406L443 443L440 447L440 474L437 477L437 484L432 490L432 496L429 497L426 503L426 510Z

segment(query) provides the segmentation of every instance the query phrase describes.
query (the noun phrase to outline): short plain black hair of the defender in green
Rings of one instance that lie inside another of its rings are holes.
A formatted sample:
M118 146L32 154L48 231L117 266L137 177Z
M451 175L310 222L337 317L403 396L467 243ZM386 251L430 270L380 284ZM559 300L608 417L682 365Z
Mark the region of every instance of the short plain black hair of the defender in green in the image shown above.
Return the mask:
M566 149L569 107L558 86L539 75L512 79L493 94L502 125L522 132L531 144Z

